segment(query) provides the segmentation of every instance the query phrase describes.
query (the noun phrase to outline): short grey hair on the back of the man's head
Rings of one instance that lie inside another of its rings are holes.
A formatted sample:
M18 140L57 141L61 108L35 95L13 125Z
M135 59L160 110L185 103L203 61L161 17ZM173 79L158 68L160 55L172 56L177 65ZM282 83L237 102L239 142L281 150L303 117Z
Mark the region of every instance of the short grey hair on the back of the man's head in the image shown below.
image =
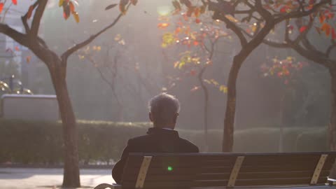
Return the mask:
M153 97L148 103L148 108L156 122L171 123L180 111L180 102L173 95L164 92Z

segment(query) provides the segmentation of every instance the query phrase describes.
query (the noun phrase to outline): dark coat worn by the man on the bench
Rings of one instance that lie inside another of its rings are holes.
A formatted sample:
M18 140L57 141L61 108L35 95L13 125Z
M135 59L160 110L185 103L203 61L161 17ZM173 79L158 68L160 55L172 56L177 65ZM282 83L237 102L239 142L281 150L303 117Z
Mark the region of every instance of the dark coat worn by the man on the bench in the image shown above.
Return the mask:
M147 135L130 139L120 160L112 170L116 183L120 184L128 153L198 153L197 146L179 137L174 130L150 128Z

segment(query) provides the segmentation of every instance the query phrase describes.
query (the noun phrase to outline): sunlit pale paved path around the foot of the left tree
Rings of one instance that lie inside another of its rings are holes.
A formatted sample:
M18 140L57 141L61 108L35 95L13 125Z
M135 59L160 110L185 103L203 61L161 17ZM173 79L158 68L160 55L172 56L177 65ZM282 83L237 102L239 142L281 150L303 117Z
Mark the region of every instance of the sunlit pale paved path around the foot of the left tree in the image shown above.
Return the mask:
M54 189L62 185L63 169L0 168L0 189ZM93 188L99 183L113 183L109 169L81 169L83 188Z

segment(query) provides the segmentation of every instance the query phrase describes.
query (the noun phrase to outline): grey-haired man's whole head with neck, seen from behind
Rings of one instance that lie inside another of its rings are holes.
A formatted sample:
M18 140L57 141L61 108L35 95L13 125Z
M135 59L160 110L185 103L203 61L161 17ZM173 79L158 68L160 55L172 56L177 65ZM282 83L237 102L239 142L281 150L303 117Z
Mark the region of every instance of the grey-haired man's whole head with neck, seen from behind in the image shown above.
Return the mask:
M179 116L180 103L174 96L161 93L153 97L148 103L149 119L154 127L174 129Z

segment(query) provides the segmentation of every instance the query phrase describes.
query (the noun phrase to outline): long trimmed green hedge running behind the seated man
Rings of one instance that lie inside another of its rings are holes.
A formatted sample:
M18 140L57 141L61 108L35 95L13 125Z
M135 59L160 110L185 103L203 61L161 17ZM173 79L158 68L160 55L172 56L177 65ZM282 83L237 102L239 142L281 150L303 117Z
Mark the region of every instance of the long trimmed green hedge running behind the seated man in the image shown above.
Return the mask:
M81 164L118 160L127 140L146 134L150 123L78 121L78 151ZM209 131L209 148L202 131L179 130L201 151L221 152L222 130ZM59 164L63 157L60 123L0 119L0 163ZM207 150L206 150L207 149ZM279 129L260 127L235 132L235 152L276 152ZM283 151L328 151L326 129L292 127L283 129Z

